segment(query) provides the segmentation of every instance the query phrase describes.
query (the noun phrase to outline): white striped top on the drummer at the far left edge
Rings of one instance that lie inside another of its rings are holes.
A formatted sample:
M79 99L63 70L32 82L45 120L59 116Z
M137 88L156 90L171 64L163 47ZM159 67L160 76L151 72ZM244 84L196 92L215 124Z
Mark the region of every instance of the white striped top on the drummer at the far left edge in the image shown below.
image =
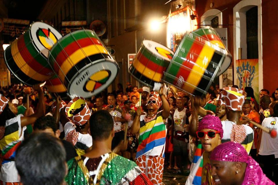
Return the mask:
M21 129L21 116L23 115L19 114L6 121L4 137L0 140L0 149L4 159L1 166L0 180L3 182L19 182L14 157L17 148L24 139L24 134L21 133L24 133L26 129L26 127Z

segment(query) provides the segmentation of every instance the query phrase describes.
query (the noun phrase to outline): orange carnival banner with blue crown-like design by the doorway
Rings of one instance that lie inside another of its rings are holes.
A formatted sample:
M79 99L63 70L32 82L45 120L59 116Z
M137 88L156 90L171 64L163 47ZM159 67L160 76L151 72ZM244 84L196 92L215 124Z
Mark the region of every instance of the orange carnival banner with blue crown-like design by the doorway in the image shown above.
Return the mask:
M259 59L236 60L236 70L239 88L252 87L259 102Z

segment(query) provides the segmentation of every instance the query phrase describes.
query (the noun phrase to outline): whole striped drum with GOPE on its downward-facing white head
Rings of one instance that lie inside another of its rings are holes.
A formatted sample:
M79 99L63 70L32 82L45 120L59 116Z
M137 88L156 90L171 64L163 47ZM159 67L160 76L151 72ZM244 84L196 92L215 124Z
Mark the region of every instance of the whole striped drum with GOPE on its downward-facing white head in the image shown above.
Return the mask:
M78 30L60 39L48 61L69 95L98 94L113 82L118 64L92 30Z

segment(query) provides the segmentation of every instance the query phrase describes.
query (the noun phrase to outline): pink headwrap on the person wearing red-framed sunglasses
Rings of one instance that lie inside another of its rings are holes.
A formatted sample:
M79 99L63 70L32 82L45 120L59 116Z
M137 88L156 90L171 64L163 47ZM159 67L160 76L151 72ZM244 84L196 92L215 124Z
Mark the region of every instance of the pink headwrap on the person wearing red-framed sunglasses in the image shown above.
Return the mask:
M219 117L213 115L206 115L203 117L198 125L198 131L202 129L212 129L220 132L220 138L223 137L222 123Z

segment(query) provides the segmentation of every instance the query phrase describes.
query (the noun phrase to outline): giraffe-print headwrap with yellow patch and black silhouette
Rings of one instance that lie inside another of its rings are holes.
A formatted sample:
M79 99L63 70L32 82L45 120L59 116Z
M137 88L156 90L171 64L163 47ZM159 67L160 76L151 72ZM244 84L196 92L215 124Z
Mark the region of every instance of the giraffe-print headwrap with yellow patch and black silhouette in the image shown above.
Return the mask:
M84 125L90 119L92 114L83 97L72 99L67 104L65 113L75 125Z

